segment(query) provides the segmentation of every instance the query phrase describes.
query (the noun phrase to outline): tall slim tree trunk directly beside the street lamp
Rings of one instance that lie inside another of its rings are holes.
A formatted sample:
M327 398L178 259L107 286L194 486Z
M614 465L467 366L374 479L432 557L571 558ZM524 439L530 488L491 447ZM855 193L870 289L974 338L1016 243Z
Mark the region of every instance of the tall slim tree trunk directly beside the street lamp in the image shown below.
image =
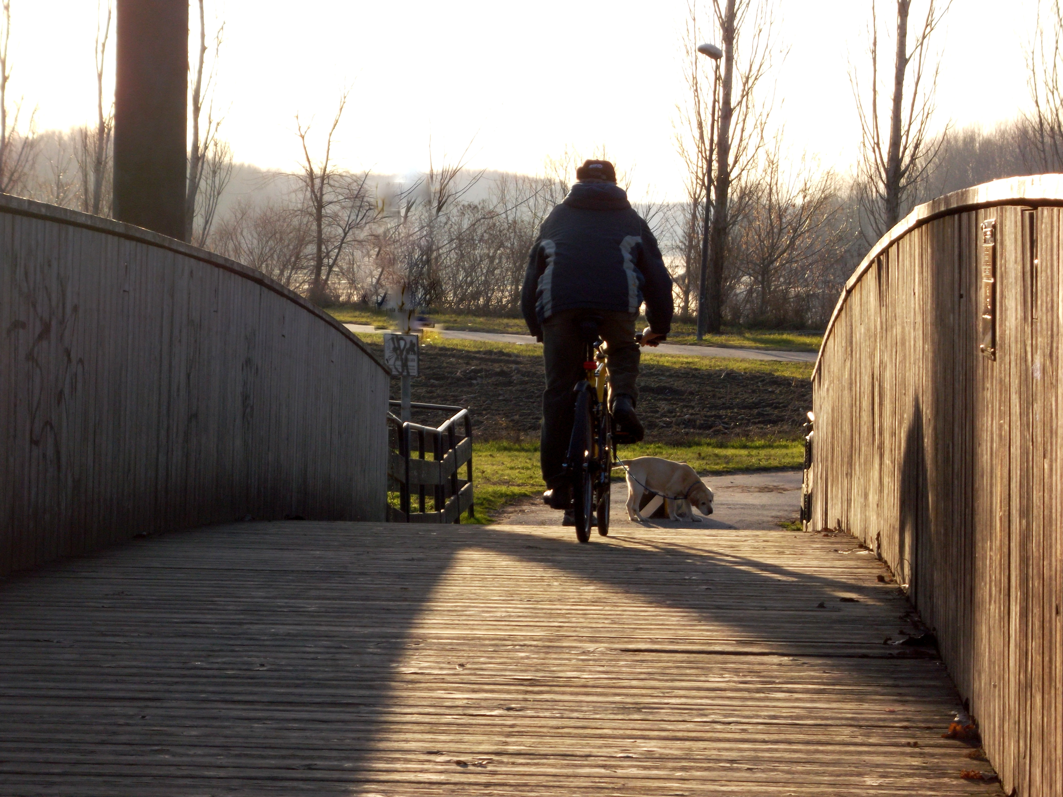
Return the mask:
M724 73L716 134L716 191L709 239L709 284L705 325L719 333L723 323L724 258L727 256L727 194L730 190L731 86L735 80L735 0L727 0L723 24Z

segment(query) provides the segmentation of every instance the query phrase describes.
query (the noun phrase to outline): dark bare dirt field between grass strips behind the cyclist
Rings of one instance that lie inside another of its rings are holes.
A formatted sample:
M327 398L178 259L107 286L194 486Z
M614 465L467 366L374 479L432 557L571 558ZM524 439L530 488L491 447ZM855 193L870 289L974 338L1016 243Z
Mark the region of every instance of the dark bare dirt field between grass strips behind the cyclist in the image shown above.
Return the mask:
M378 344L370 345L382 351ZM543 388L540 357L432 346L420 363L422 375L412 387L415 402L468 407L480 440L538 439ZM661 442L690 437L793 438L812 406L807 378L645 360L639 389L639 417L647 439ZM399 397L398 379L391 383L391 397Z

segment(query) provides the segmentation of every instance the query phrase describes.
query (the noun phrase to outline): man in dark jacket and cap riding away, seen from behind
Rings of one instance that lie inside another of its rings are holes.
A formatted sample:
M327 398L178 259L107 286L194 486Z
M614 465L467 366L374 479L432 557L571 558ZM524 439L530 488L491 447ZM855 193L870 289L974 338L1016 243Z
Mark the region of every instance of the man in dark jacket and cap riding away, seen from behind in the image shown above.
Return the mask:
M539 454L547 488L543 499L566 510L572 501L563 463L573 388L585 378L581 323L597 320L606 342L614 439L638 442L645 433L635 413L640 354L635 323L645 301L649 326L642 344L657 345L671 329L673 313L672 277L657 240L617 185L612 164L587 160L576 180L539 230L521 292L521 311L543 343L546 371Z

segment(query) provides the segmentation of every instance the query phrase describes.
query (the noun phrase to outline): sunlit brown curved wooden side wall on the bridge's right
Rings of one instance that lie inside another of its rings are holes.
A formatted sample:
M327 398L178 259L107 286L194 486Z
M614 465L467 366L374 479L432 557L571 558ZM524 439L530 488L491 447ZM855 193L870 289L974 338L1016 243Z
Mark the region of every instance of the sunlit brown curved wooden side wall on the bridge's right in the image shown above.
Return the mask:
M1063 175L916 208L813 373L813 528L892 569L1005 791L1063 794Z

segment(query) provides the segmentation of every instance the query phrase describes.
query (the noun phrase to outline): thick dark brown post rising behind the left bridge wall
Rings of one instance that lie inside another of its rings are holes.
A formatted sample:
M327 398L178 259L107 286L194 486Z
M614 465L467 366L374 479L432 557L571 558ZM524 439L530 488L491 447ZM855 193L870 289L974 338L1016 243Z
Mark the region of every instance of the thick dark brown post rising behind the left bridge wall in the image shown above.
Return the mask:
M188 0L118 0L115 219L183 238Z

